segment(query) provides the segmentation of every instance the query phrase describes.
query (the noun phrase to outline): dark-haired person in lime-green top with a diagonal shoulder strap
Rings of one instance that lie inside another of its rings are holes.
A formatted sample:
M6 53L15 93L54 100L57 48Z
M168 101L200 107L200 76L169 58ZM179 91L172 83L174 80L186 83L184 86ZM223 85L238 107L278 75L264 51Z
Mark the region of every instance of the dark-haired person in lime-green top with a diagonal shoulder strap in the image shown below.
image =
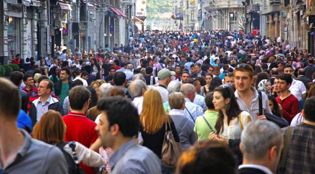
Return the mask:
M194 132L197 134L198 140L207 140L209 134L214 131L218 119L218 112L215 110L212 101L213 92L209 92L205 96L207 110L203 116L197 117L194 127Z

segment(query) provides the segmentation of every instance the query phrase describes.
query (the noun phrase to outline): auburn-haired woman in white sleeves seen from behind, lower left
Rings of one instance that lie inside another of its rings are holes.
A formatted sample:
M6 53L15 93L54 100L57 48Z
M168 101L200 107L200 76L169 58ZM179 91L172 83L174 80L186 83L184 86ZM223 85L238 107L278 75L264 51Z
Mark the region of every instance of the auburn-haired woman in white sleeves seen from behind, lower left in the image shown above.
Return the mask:
M34 126L33 138L58 146L63 144L65 130L61 114L54 110L48 110ZM104 164L103 158L98 153L88 149L79 142L75 142L75 145L79 162L90 167L99 167ZM72 149L68 143L62 149L73 156Z

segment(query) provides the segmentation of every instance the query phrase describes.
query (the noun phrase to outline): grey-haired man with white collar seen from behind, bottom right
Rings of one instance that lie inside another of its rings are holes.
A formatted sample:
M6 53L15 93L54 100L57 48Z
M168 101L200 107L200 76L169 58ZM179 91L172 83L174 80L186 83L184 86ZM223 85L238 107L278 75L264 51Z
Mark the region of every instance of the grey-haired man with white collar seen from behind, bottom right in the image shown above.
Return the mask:
M243 164L238 166L239 174L276 174L283 142L275 123L263 120L249 123L241 134Z

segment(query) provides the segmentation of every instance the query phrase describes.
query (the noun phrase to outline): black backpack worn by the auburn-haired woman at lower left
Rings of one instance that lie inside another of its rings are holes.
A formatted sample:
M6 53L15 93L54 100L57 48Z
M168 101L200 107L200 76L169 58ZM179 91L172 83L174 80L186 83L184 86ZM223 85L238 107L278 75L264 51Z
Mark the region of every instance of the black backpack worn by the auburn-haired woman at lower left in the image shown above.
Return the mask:
M72 149L73 158L68 152L63 150L63 147L67 144L69 144L69 147L71 147L71 149ZM63 152L63 156L64 156L65 160L67 161L68 174L85 174L85 172L83 170L81 170L80 166L79 166L79 160L78 160L77 153L76 153L76 143L75 142L60 142L56 146Z

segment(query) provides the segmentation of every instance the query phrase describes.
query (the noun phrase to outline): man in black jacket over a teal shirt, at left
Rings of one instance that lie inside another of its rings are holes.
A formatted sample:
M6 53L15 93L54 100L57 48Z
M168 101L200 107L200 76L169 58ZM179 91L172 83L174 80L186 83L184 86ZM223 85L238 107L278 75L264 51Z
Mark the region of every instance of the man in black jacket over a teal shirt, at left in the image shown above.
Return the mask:
M60 80L55 84L55 94L60 98L60 102L63 105L63 100L69 95L69 91L72 87L72 81L69 80L70 70L68 68L61 69Z

